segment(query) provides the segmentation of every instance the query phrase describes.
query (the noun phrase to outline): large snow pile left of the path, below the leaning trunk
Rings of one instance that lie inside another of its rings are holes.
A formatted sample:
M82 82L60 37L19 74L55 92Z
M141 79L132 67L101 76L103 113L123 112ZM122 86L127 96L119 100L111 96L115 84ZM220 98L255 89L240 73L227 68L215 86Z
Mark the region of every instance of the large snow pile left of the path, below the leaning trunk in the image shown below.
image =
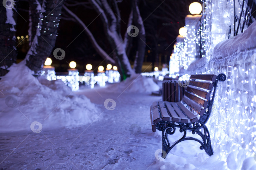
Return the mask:
M0 131L30 130L32 122L43 129L72 127L92 122L99 109L61 81L38 80L24 66L14 64L0 80Z

